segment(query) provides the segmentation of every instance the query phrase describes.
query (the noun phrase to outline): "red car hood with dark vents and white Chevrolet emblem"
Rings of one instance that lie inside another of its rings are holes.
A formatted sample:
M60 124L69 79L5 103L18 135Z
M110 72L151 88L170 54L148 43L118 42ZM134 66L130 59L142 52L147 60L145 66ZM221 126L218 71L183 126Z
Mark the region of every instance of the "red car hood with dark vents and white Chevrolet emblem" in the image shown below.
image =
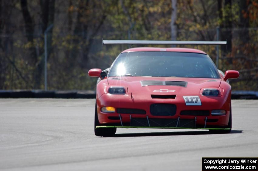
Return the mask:
M123 86L133 94L200 94L205 87L219 87L221 79L182 77L108 77L110 86Z

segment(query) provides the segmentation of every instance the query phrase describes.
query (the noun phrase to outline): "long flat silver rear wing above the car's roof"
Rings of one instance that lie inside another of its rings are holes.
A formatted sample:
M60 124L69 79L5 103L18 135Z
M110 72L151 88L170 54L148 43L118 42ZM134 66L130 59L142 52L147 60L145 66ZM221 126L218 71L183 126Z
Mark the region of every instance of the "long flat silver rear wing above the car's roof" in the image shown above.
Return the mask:
M227 41L159 41L159 40L102 40L103 44L193 44L193 45L226 45Z

